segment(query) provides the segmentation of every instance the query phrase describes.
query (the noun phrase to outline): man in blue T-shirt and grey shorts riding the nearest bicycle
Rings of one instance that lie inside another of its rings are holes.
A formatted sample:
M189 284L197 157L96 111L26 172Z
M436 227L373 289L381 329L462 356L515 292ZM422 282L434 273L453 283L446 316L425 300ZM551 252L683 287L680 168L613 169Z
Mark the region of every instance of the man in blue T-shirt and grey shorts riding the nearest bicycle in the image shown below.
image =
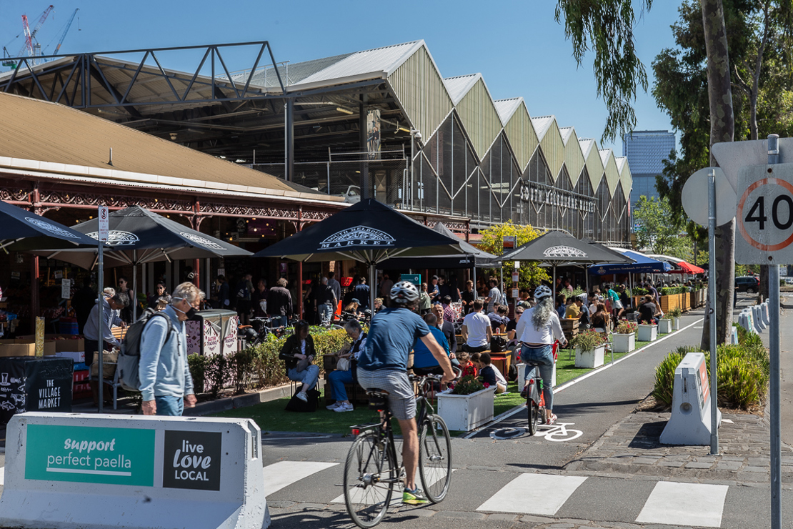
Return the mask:
M426 504L427 496L416 486L419 459L419 435L416 426L416 394L408 379L408 355L417 339L427 346L443 370L442 382L454 380L449 357L430 332L427 323L416 314L419 289L411 282L400 281L391 288L391 306L372 319L366 347L358 357L358 384L364 389L381 389L389 393L389 409L402 431L404 492L402 503Z

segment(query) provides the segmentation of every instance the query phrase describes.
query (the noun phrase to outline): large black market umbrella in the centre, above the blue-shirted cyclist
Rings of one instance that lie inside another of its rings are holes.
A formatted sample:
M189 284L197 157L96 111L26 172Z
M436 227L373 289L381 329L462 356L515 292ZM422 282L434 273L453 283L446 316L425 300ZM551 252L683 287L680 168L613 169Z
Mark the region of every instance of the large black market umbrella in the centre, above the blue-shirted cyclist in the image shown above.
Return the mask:
M393 257L464 254L462 241L419 224L374 198L335 213L254 257L279 257L304 263L354 259L369 266L370 307L374 307L374 270Z

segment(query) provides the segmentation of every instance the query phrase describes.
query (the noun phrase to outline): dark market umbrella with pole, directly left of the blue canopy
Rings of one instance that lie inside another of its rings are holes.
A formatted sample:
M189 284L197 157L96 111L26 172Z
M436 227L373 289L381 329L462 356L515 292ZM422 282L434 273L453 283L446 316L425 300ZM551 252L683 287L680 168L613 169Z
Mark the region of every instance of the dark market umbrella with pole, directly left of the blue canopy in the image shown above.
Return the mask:
M515 250L501 255L502 261L538 261L554 269L552 289L556 297L556 267L560 264L631 263L633 260L609 248L578 240L567 232L547 232Z

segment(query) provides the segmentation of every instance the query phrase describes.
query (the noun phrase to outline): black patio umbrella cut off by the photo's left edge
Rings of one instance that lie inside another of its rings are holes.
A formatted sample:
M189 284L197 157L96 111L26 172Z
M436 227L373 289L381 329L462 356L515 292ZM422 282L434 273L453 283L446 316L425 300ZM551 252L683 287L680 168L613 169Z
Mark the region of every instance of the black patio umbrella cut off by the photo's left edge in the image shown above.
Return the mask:
M98 240L86 237L54 220L45 219L27 209L0 201L0 249L23 240L38 243L67 244L72 248L98 247ZM7 250L6 250L7 251Z

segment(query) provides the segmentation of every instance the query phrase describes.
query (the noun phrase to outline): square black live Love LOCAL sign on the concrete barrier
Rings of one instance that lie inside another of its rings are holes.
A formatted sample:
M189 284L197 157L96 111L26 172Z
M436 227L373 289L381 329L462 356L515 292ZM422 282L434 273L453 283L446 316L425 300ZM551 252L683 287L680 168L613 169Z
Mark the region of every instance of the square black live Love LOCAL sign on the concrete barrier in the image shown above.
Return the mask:
M165 431L163 487L220 490L219 431Z

